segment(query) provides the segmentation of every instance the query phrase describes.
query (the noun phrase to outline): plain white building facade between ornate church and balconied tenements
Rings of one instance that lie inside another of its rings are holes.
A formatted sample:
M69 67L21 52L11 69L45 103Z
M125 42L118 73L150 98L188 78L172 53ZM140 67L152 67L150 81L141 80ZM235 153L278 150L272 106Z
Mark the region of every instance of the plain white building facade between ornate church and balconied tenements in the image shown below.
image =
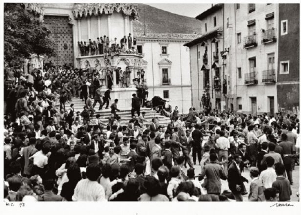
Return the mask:
M191 107L190 56L184 43L197 35L134 33L137 49L148 62L145 77L149 98L160 96L174 108L188 113Z

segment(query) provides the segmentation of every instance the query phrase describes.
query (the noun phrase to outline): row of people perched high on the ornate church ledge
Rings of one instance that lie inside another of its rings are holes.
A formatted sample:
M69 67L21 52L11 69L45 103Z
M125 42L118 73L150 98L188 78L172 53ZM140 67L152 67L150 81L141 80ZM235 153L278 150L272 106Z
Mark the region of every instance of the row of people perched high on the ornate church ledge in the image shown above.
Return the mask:
M108 56L113 57L114 55L121 53L142 54L136 49L136 38L132 38L130 33L128 37L124 36L120 39L120 43L117 41L117 38L112 40L104 35L104 37L98 37L97 41L92 41L91 39L89 39L88 42L78 41L77 45L81 56L104 55L104 58L106 59Z

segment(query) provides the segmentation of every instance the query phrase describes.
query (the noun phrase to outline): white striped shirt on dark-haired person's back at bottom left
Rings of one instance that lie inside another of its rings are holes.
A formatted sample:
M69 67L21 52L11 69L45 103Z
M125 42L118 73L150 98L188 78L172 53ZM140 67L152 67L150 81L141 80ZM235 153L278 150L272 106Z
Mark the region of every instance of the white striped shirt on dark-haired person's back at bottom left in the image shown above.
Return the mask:
M80 180L72 196L73 201L106 201L105 191L97 181Z

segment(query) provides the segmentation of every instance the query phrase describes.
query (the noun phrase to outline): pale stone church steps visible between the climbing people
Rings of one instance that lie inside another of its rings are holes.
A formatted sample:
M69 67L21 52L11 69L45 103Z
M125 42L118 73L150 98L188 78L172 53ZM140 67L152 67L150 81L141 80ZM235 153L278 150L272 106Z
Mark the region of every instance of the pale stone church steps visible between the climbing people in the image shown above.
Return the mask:
M92 100L92 101L94 102L94 100ZM70 102L70 104L71 103L74 104L74 110L75 110L75 112L76 111L80 111L80 112L83 111L85 103L80 98L73 97L72 98L72 102ZM110 105L111 105L111 103L112 103L112 101L110 102ZM70 104L66 103L66 110L69 110ZM94 108L95 109L94 116L90 117L92 124L94 124L93 123L93 121L94 121L93 119L96 119L96 115L97 114L100 114L100 117L102 118L102 122L104 122L106 124L108 123L108 119L106 119L106 118L111 115L110 105L109 105L109 109L105 109L105 106L104 106L103 109L101 111L99 111L98 110L99 109L99 103L96 104L96 106ZM132 118L130 110L131 110L131 107L129 107L129 108L123 108L123 109L120 108L120 112L117 112L117 114L121 117L121 120L120 120L121 125L127 126L129 124L129 120ZM154 118L154 117L158 117L160 125L163 125L163 126L167 126L171 122L170 118L162 116L159 113L156 113L151 108L140 108L140 114L143 111L145 112L145 116L144 117L148 120L148 122L144 122L144 124L146 124L146 125L150 124L152 118ZM137 116L137 113L135 113L135 115Z

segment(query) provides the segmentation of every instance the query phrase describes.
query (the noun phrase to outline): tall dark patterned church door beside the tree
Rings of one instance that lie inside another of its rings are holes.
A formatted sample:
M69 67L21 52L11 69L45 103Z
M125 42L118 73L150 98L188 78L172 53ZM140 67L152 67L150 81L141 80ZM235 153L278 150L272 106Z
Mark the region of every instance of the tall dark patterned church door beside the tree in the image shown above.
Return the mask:
M45 63L51 60L54 65L73 65L73 35L69 18L62 16L44 16L44 23L52 32L50 37L56 44L56 56L46 58Z

